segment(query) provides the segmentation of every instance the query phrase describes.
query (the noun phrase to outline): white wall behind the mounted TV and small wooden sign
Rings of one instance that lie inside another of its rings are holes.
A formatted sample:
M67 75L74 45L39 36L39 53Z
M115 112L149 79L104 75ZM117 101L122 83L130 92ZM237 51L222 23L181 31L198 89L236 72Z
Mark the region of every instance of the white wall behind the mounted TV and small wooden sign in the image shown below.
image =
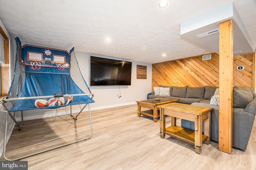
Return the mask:
M76 50L76 49L75 49ZM89 62L90 55L95 57L104 57L100 55L75 52L77 61L89 86ZM113 57L104 57L115 59ZM123 60L123 59L119 59ZM125 60L128 61L128 60ZM131 86L90 86L90 90L94 94L95 103L91 104L92 109L101 109L107 107L121 106L126 104L135 104L137 100L144 100L147 94L151 92L152 81L152 64L132 62L132 80ZM136 79L136 69L138 65L147 66L147 79ZM120 88L120 91L119 91ZM116 95L120 95L120 98L116 98Z

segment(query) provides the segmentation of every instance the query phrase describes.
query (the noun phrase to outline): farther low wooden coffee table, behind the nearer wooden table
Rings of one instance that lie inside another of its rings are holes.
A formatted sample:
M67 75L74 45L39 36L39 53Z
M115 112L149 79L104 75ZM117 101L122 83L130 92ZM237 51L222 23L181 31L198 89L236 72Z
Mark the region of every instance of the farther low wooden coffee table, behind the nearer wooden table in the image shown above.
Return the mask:
M153 117L154 122L157 122L158 117L160 117L160 112L158 106L161 104L168 104L172 102L177 102L178 100L166 99L166 98L155 98L148 100L136 101L138 105L138 117L140 114ZM141 107L148 108L150 110L141 111Z

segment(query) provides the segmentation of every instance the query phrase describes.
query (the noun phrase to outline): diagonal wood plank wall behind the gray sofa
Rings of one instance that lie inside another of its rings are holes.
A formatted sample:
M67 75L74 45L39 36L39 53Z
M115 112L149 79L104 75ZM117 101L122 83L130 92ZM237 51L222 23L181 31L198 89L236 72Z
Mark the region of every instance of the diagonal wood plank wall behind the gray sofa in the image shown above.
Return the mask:
M254 53L235 55L233 86L254 88ZM237 66L244 66L238 71ZM211 60L202 61L202 55L152 64L153 87L163 86L219 86L219 55L212 53Z

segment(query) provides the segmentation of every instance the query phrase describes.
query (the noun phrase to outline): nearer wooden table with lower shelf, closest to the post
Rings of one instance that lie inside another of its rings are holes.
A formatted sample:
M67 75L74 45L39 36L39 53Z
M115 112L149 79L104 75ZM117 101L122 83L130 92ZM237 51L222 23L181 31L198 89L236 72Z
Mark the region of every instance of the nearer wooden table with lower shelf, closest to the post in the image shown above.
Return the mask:
M181 139L195 145L195 152L202 152L202 143L210 143L210 117L211 107L194 106L189 104L170 103L160 107L160 137L165 134ZM171 116L171 126L165 127L166 115ZM194 121L195 130L176 126L176 117ZM202 121L204 121L204 135L202 134Z

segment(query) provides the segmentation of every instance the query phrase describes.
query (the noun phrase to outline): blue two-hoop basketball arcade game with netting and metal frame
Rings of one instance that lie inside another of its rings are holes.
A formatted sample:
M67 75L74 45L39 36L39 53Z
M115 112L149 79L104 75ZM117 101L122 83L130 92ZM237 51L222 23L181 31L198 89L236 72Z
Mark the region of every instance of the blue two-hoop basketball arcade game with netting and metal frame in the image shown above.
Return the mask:
M90 103L94 102L92 99L94 95L80 72L74 53L74 47L70 50L70 53L68 53L64 50L34 45L24 45L21 47L20 39L16 37L15 40L17 44L17 54L14 78L7 97L0 102L1 111L6 113L3 149L4 158L6 160L19 160L89 139L92 136ZM54 100L52 98L56 99L56 101L48 102L51 104L42 102L43 100L46 102ZM61 102L60 98L63 98L63 102ZM68 102L64 102L66 100L64 100L64 98L68 98ZM71 98L72 100L70 100ZM54 102L54 104L52 104L52 102ZM73 115L72 105L80 104L84 104L84 107L81 108L76 116ZM59 107L67 106L70 107L70 116L74 121L78 119L78 115L88 106L91 133L87 137L19 158L9 159L6 157L8 115L16 123L20 131L23 126L24 110L45 108L58 109ZM21 113L22 120L20 123L16 120L15 114L17 111Z

